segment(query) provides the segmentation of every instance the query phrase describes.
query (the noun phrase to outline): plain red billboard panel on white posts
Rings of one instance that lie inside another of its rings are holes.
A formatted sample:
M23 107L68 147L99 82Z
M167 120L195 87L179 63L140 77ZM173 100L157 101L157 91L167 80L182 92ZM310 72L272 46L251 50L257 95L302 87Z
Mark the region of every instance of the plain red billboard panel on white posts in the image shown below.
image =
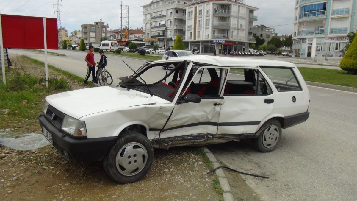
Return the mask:
M5 48L44 49L44 18L1 14ZM47 49L58 49L57 19L46 18Z

